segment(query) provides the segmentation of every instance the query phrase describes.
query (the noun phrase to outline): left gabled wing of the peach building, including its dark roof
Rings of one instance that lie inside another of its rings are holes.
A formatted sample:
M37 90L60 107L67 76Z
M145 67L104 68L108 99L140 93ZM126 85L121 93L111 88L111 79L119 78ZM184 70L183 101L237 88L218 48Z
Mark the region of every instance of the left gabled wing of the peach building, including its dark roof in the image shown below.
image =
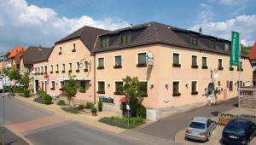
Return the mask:
M48 60L34 64L35 90L59 96L63 93L65 81L74 76L80 87L76 99L93 102L94 60L91 50L97 36L104 32L108 31L84 26L56 42Z

